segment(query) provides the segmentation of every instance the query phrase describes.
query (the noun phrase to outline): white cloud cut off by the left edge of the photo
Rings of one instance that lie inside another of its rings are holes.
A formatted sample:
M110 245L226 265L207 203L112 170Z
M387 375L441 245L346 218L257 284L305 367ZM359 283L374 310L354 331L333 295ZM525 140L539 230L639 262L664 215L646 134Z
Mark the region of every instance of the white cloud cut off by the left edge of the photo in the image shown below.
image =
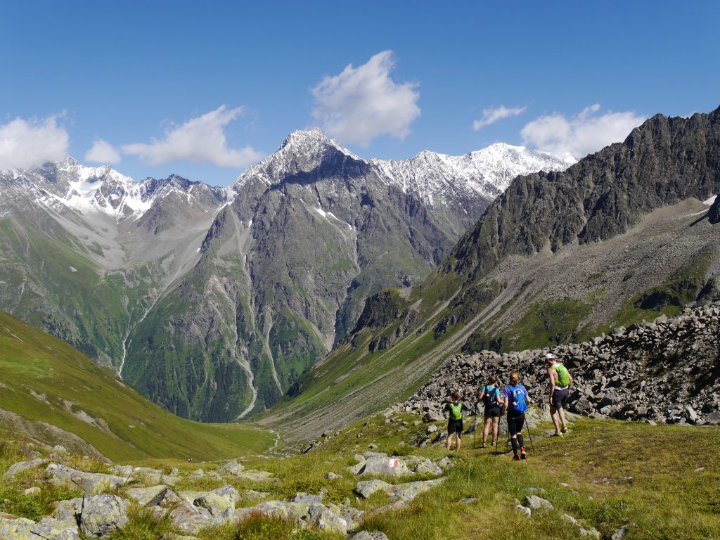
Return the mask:
M0 168L35 168L66 156L70 137L56 116L0 125Z

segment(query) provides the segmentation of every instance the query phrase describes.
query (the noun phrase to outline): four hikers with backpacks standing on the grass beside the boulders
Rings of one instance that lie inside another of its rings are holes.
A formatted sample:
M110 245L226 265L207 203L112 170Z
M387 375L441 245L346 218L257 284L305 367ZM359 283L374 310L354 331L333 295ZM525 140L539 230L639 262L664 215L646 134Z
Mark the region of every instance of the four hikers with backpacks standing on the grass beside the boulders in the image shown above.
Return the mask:
M567 433L567 423L565 422L565 402L570 395L570 387L572 386L572 377L567 368L557 361L556 356L552 353L545 355L547 364L547 374L550 379L549 405L550 417L555 426L555 436L562 437ZM498 386L498 378L491 375L487 384L477 391L477 399L474 407L482 402L485 406L485 426L482 428L482 448L487 447L487 436L492 428L492 441L490 446L498 444L498 430L500 428L500 415L507 412L508 432L510 433L510 441L513 445L513 459L519 461L526 459L525 444L523 441L523 425L526 423L525 411L531 402L526 387L520 382L520 374L518 372L510 373L510 382L508 386L500 392ZM446 447L450 451L452 439L455 437L455 449L460 451L460 436L463 431L463 413L471 413L464 403L460 402L459 392L451 394L451 401L446 403L444 412L448 413L448 436Z

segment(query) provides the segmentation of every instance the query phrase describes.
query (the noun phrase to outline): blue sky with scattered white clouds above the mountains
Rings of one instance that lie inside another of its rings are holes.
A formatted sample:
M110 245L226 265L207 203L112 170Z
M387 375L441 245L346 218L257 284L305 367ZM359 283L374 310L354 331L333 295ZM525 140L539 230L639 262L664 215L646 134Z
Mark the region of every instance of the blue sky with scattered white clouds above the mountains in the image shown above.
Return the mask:
M6 0L0 168L68 153L227 185L313 125L364 158L578 158L718 107L720 3L686 4Z

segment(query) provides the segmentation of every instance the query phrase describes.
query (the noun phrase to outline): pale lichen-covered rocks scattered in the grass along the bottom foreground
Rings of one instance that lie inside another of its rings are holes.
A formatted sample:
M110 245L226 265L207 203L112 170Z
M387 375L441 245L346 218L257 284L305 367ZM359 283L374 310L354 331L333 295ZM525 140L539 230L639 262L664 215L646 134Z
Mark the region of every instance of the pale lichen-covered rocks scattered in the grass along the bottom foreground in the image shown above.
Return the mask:
M374 446L374 445L371 445ZM359 445L357 445L359 449ZM36 451L32 451L38 454ZM68 490L80 490L78 497L57 500L53 511L38 521L0 513L0 538L18 540L81 540L105 538L122 531L132 512L147 511L163 519L169 530L166 540L196 538L204 529L242 523L248 518L264 516L279 518L296 528L312 529L328 534L347 536L356 540L382 540L387 536L378 531L361 531L361 521L368 515L378 516L391 510L406 508L421 493L441 483L444 469L452 460L444 457L432 461L420 456L390 456L384 452L366 451L356 454L344 475L356 478L355 500L369 499L382 493L389 502L369 510L354 508L353 500L340 503L324 500L328 490L316 494L296 492L289 498L273 498L277 484L274 474L246 469L238 460L222 464L214 470L198 468L192 472L169 472L162 468L107 466L107 472L87 472L63 464L64 449L58 447L53 457L42 457L12 464L4 473L4 481L15 480L35 469L43 482ZM90 460L87 460L91 464ZM102 467L89 467L102 468ZM328 483L343 478L343 474L327 472ZM394 484L379 480L395 479ZM238 489L235 485L250 482L257 489ZM202 485L204 489L184 489L183 485ZM180 486L180 487L175 487ZM217 486L217 487L212 487ZM212 487L212 489L211 489ZM31 487L23 495L32 498L40 494L40 487ZM314 538L314 537L313 537Z

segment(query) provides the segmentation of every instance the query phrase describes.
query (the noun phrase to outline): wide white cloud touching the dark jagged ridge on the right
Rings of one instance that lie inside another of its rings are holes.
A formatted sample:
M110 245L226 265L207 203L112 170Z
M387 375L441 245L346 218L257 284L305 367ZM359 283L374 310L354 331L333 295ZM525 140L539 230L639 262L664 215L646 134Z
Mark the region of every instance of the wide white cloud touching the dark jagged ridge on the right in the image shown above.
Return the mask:
M577 161L625 140L647 118L634 112L597 114L599 110L600 104L594 104L570 118L557 112L536 118L520 132L523 144Z

